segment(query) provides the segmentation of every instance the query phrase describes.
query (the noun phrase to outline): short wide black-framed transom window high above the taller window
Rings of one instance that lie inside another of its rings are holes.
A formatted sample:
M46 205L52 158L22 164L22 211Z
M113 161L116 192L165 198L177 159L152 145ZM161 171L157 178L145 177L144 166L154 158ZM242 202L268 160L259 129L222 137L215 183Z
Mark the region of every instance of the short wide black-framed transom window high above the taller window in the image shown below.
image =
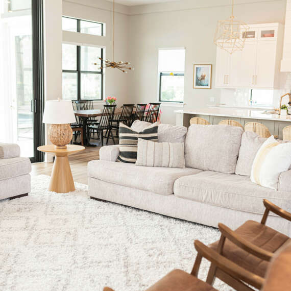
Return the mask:
M81 32L99 36L104 35L103 23L71 18L67 16L62 17L62 29L66 31Z

